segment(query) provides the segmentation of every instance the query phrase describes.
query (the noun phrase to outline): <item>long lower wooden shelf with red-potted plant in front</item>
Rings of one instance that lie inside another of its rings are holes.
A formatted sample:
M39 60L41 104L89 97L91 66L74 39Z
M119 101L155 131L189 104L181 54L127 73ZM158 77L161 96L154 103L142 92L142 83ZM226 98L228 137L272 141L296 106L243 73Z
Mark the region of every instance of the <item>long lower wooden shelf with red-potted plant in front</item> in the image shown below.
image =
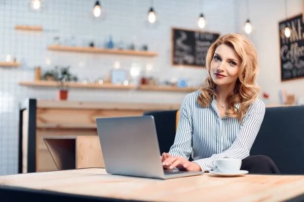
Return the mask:
M20 81L19 85L24 86L41 86L41 87L59 87L59 82L56 81ZM103 88L103 89L135 89L135 85L114 85L114 84L98 84L98 83L88 83L83 84L80 82L69 82L65 84L64 86L68 88Z

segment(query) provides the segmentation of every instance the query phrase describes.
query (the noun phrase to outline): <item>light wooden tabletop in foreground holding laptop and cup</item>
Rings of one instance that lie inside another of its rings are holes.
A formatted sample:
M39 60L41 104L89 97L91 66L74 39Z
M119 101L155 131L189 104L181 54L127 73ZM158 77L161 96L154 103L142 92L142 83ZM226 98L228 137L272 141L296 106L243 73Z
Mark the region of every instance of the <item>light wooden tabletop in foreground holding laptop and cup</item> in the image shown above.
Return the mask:
M282 201L303 199L302 175L217 177L210 173L168 180L109 175L102 168L0 176L0 195L6 186L30 188L49 194L66 193L83 199L110 198L139 201ZM22 188L21 188L22 189ZM55 191L55 192L53 192ZM61 193L60 193L61 192ZM12 197L17 197L15 192ZM37 196L37 192L32 197ZM93 197L92 197L93 196ZM51 196L46 196L50 197ZM101 198L100 198L101 197ZM56 200L57 201L57 200Z

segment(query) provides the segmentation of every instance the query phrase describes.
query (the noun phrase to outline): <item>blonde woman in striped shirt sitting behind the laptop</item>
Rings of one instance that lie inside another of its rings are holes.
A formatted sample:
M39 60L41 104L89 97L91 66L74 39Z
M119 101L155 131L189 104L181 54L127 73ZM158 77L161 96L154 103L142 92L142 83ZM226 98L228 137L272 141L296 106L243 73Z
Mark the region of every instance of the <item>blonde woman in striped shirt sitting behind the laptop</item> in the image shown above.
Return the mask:
M257 98L257 53L251 41L237 33L219 37L208 50L206 67L206 87L182 102L174 144L161 156L163 167L208 172L217 159L237 158L243 160L241 170L279 173L269 157L249 156L265 114Z

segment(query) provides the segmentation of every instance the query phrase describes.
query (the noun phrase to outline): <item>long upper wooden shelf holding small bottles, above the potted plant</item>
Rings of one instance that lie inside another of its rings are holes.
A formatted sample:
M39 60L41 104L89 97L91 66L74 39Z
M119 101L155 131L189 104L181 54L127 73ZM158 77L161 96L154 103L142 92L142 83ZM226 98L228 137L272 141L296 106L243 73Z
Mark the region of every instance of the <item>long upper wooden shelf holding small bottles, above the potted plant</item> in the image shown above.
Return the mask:
M133 56L147 56L154 57L158 53L147 51L132 51L132 50L119 50L119 49L103 49L96 47L74 47L74 46L61 46L50 45L48 47L52 51L69 51L69 52L83 52L83 53L99 53L99 54L119 54L119 55L133 55Z

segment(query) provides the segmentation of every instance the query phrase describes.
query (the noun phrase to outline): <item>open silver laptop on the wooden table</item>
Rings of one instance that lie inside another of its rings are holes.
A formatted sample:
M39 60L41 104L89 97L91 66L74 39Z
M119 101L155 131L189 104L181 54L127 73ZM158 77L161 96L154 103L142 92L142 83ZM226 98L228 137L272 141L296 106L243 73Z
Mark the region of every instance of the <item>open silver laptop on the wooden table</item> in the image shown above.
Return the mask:
M96 124L109 174L169 179L204 173L163 168L153 116L97 118Z

